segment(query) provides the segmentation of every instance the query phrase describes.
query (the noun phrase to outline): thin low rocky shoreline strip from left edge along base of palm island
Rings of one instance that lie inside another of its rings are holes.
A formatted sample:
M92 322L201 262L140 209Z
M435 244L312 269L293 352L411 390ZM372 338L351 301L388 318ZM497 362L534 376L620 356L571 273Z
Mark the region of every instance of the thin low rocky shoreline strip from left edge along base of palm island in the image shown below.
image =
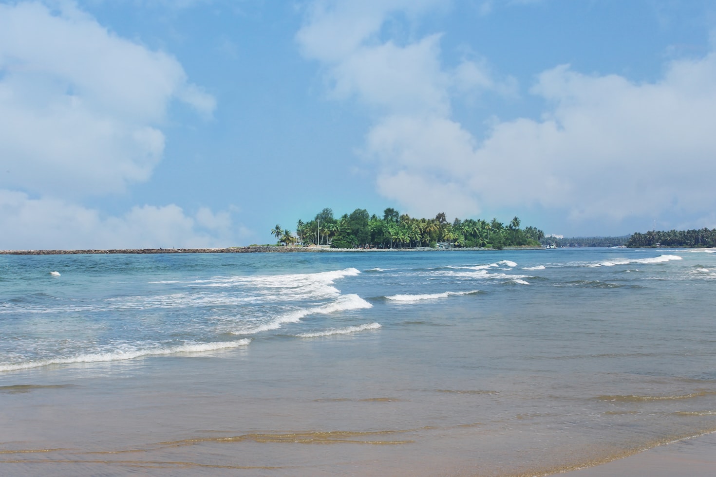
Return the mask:
M153 255L160 253L261 253L261 252L445 252L460 250L495 251L490 248L324 248L324 247L228 247L228 248L127 248L108 250L0 250L0 255ZM543 250L542 247L505 247L503 250Z

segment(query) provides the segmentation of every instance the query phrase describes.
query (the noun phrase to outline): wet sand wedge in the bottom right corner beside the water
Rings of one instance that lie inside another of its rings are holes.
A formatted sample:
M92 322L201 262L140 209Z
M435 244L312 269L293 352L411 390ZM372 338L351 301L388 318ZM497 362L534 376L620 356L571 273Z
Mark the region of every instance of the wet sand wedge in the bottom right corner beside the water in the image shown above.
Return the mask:
M570 477L716 475L716 433L658 446L601 466L570 471Z

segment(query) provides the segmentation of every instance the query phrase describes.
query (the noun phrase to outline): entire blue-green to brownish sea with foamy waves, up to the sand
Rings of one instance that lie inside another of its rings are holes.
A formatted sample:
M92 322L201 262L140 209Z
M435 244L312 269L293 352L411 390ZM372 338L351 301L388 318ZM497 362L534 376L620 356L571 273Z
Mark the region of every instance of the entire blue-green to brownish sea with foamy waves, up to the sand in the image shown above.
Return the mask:
M547 475L710 433L712 252L1 255L0 473Z

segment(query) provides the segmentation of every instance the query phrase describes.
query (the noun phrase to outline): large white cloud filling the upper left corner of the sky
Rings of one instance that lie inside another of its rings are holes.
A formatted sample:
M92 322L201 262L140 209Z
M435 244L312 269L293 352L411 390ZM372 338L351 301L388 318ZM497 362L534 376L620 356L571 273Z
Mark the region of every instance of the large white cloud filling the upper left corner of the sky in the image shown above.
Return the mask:
M81 197L145 181L169 102L215 100L172 56L107 31L63 2L0 4L0 187Z

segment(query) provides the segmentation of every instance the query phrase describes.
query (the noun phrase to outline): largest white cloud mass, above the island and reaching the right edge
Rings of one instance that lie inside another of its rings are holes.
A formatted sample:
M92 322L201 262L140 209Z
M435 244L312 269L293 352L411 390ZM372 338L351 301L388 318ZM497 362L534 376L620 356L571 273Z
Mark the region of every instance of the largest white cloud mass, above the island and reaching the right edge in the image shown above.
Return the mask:
M335 51L320 45L341 43L325 26L346 21L339 9L309 18L297 38L323 62L336 97L382 107L362 153L377 161L379 192L402 208L474 216L540 206L612 223L716 208L716 54L667 64L650 83L549 69L530 91L545 101L542 117L493 119L478 140L453 119L450 101L484 92L516 98L516 80L496 79L484 61L443 66L438 35L380 41L392 10L371 11L369 27Z

